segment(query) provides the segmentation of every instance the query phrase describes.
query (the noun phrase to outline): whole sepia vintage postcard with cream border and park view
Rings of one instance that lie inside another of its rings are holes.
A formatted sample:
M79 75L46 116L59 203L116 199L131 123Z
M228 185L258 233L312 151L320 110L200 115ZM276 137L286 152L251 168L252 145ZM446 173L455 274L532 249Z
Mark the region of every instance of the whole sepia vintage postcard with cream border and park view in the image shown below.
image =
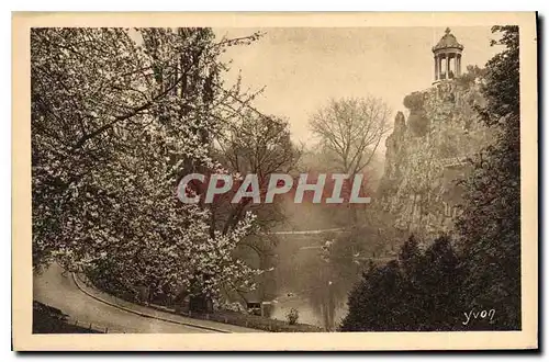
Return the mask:
M538 348L537 27L14 13L13 348Z

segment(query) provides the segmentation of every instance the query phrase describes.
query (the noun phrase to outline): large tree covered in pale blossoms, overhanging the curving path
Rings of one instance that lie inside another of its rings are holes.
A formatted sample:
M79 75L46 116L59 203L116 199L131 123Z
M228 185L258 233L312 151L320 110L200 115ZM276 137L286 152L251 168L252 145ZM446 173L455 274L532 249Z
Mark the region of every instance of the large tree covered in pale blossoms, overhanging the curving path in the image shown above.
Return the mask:
M211 139L248 104L227 88L226 46L209 29L34 29L31 33L33 265L109 275L175 294L215 296L261 271L233 250L254 216L210 231L209 211L182 204L177 181L221 171Z

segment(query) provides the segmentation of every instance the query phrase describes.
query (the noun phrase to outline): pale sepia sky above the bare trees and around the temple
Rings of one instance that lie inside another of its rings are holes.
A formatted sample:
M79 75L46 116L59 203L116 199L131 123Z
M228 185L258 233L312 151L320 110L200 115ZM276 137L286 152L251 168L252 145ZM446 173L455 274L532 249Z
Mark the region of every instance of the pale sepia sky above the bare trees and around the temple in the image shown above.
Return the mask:
M445 34L445 27L430 26L214 29L219 37L256 31L265 33L258 42L225 53L224 60L233 61L226 80L242 71L245 87L265 87L255 106L287 117L293 139L307 144L314 143L309 116L330 98L381 98L393 111L392 123L397 111L405 112L405 95L432 86L432 47ZM498 52L490 46L496 36L490 26L451 27L451 33L464 46L462 70L484 66Z

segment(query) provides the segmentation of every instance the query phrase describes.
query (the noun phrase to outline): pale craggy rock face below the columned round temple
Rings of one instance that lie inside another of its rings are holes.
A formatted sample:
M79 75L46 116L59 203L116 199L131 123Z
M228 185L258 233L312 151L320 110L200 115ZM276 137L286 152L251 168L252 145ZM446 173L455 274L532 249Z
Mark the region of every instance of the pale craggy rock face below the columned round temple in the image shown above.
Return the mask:
M474 110L483 102L480 86L460 79L404 98L410 116L396 114L378 190L378 207L397 229L426 240L451 231L462 203L458 181L493 136Z

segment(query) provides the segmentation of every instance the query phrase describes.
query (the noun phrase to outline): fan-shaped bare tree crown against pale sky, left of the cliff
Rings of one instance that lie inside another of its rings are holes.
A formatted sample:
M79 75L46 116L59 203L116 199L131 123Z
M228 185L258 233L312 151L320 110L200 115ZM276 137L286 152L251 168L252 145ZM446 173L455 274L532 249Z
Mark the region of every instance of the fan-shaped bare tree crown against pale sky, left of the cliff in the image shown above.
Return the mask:
M330 100L314 113L310 127L340 170L354 176L372 161L389 131L390 115L391 110L381 99L344 98Z

